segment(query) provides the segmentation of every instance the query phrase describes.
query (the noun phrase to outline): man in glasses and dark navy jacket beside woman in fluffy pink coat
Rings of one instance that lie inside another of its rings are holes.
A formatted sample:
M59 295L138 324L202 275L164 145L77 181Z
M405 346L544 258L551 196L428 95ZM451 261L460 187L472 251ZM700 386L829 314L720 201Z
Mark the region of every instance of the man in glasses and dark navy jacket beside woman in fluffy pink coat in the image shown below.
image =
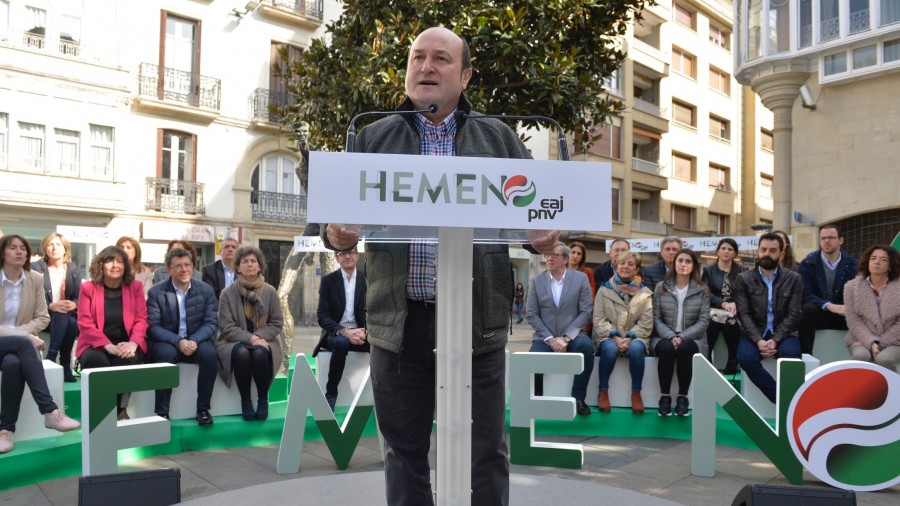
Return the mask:
M844 234L836 225L819 229L819 250L800 262L803 280L803 316L800 318L800 350L812 355L816 330L847 330L844 317L844 284L856 277L856 259L841 249Z

